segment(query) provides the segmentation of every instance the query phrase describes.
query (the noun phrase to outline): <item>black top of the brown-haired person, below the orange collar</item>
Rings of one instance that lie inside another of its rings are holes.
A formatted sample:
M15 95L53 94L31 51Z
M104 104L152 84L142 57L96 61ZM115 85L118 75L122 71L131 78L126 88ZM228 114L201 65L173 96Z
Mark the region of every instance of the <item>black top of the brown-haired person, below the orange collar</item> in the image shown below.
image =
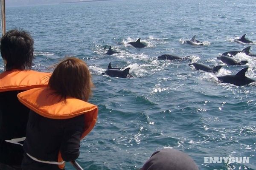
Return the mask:
M84 131L84 115L71 119L49 119L34 111L29 113L26 140L23 149L29 155L44 161L58 161L58 152L64 161L79 156L80 138ZM45 164L24 156L23 170L58 170L58 165Z

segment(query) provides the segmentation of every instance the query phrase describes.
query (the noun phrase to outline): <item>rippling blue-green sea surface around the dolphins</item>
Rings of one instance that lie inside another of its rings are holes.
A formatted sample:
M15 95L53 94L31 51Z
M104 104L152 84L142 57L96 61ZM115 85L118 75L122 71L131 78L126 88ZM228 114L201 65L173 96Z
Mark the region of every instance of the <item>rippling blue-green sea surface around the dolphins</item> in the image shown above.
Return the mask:
M217 76L256 80L256 57L238 54L244 66L216 59L251 46L256 53L256 1L113 0L6 7L6 30L22 28L35 40L33 69L50 71L65 56L87 63L98 105L96 126L81 141L77 161L85 170L138 170L151 154L175 148L200 170L256 170L256 83L235 86ZM234 40L247 34L253 44ZM194 35L204 45L184 44ZM145 48L128 42L141 38ZM120 53L106 55L112 46ZM106 49L104 49L106 48ZM173 54L186 60L158 60ZM128 68L134 78L102 75ZM196 71L191 62L223 65L216 74ZM3 60L0 59L0 71ZM204 157L249 157L250 163L205 163ZM67 163L67 170L73 167Z

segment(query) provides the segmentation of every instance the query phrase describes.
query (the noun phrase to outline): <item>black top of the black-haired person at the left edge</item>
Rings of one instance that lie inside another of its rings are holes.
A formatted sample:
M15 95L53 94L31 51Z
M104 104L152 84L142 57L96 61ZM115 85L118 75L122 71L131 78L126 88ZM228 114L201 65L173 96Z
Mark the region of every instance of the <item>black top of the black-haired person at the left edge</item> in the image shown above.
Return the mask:
M18 101L17 94L20 92L0 93L0 162L17 166L23 159L23 148L5 140L26 136L29 109Z

